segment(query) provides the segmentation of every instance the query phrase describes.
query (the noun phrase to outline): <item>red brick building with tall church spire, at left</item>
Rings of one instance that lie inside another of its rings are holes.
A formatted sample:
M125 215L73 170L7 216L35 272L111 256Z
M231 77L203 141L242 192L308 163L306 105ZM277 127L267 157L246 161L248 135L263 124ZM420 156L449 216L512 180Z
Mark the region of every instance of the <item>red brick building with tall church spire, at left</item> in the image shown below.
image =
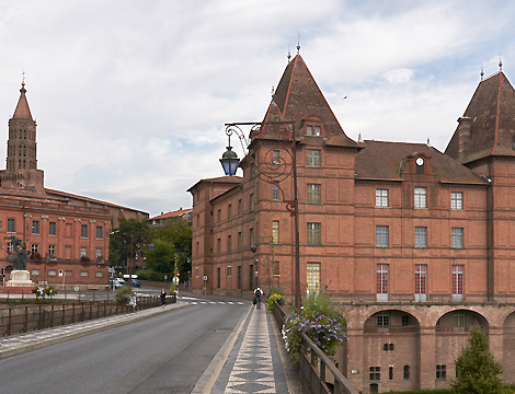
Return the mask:
M27 263L32 281L105 286L112 229L122 217L141 220L148 213L45 188L24 83L20 92L9 120L7 170L0 171L0 267L11 266L10 239L15 236L32 252Z

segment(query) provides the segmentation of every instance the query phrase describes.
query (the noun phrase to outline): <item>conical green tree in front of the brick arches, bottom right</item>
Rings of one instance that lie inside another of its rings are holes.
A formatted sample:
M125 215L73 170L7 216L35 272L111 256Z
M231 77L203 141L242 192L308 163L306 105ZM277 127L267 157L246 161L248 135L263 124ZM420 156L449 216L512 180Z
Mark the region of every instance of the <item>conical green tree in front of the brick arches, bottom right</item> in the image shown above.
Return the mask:
M499 374L503 372L499 362L489 351L487 336L480 327L470 332L469 344L456 360L458 378L451 387L457 394L502 394L506 393Z

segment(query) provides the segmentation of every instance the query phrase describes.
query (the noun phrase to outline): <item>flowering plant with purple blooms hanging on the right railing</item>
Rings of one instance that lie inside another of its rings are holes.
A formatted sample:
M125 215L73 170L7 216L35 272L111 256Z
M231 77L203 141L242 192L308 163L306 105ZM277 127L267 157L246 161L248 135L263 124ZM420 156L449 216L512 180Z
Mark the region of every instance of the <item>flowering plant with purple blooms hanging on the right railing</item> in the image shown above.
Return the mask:
M301 333L328 356L334 355L336 346L346 340L346 322L324 292L311 293L299 313L289 315L282 329L286 350L298 361L302 344Z

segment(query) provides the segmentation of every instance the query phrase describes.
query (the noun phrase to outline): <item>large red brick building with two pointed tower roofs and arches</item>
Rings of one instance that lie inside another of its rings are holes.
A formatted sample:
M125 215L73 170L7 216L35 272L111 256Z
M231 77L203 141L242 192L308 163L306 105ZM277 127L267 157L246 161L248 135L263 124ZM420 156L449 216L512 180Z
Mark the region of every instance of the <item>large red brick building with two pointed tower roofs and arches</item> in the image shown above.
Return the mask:
M476 324L515 382L514 114L515 91L499 72L479 84L445 153L356 142L297 55L268 124L250 135L243 177L190 188L193 289L293 294L291 177L279 165L291 158L284 126L270 121L295 120L301 291L324 287L344 306L340 367L351 382L363 392L447 387Z

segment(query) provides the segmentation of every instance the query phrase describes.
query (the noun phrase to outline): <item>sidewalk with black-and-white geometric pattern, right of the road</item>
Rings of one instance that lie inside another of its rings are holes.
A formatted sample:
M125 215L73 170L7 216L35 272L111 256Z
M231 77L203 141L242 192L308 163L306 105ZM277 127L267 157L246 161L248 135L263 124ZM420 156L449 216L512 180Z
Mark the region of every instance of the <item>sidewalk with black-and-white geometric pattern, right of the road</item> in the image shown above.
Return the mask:
M300 393L266 303L250 306L192 392L201 393Z

